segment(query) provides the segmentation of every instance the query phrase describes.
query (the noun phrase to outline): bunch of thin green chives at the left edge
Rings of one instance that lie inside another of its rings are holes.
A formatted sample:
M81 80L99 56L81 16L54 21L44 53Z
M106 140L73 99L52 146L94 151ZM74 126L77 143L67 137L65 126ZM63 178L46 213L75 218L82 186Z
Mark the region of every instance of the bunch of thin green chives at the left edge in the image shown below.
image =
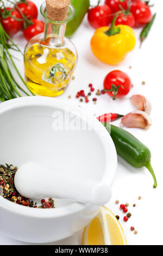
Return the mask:
M21 97L21 92L27 96L30 96L29 93L34 95L16 68L14 60L9 52L10 49L21 52L17 45L11 40L9 35L4 31L0 22L0 101L7 101L16 97ZM18 77L20 77L24 86L27 88L27 92L16 82L14 76L12 75L9 62L11 62L12 67L15 69Z

